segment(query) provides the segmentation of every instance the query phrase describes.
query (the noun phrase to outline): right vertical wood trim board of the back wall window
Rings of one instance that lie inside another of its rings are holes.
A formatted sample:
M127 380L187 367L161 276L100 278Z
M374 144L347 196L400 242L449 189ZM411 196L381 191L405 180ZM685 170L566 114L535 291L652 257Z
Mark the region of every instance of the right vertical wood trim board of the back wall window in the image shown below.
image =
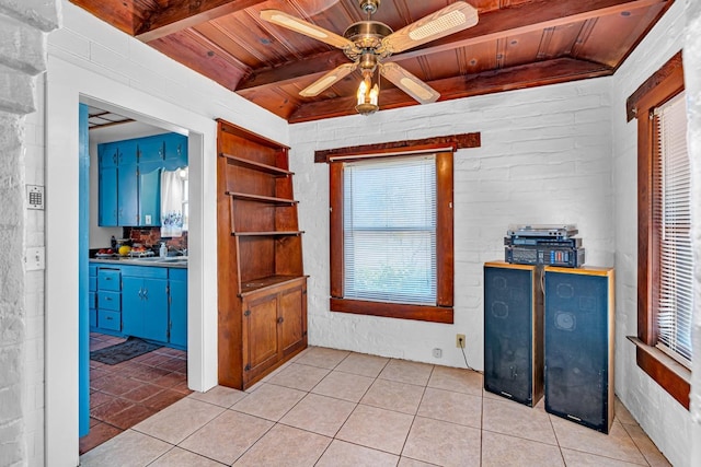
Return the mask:
M436 304L452 306L453 304L453 179L452 153L436 154L437 209L436 224ZM450 280L448 280L450 278Z

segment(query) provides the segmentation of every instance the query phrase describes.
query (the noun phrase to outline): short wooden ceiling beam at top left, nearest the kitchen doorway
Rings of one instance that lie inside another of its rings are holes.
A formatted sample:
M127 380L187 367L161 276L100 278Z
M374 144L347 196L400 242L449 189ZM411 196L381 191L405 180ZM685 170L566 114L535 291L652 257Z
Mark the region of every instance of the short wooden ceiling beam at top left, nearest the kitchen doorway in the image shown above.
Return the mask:
M114 1L114 0L108 0ZM198 0L180 1L150 16L134 28L134 36L149 43L170 34L196 26L245 8L255 7L265 0Z

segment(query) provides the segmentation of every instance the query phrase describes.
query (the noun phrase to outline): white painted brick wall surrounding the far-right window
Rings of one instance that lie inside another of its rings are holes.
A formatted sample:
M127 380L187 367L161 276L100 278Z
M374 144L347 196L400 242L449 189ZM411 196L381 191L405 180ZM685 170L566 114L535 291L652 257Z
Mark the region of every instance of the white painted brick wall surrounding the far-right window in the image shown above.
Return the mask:
M625 100L682 48L683 10L683 1L675 2L618 70L611 93L616 188L616 389L633 417L675 466L693 465L690 460L694 443L691 418L683 407L637 367L635 348L625 339L625 336L637 335L637 122L625 121ZM696 440L696 444L699 443L701 440Z

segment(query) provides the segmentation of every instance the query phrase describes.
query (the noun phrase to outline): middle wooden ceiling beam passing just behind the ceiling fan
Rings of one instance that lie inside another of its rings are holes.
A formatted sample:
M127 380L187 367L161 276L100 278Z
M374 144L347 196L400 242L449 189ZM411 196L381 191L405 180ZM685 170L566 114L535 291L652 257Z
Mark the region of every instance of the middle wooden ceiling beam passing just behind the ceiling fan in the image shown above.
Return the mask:
M568 23L583 22L601 15L617 14L653 4L665 4L669 0L541 0L519 7L483 13L480 22L469 30L434 40L423 47L392 56L386 61L402 61L421 56L444 52L460 47L473 46L501 38L542 31ZM332 68L346 62L341 50L307 57L289 65L253 71L242 80L237 91L260 86L280 85L303 77L319 78Z

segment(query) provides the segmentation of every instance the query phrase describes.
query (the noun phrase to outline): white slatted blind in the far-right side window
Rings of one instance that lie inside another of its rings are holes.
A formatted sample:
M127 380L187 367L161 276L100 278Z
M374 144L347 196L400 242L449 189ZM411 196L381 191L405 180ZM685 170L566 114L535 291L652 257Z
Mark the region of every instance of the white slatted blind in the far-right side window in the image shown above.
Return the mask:
M655 110L655 130L658 143L654 209L659 240L658 347L689 365L692 355L693 249L685 93Z

